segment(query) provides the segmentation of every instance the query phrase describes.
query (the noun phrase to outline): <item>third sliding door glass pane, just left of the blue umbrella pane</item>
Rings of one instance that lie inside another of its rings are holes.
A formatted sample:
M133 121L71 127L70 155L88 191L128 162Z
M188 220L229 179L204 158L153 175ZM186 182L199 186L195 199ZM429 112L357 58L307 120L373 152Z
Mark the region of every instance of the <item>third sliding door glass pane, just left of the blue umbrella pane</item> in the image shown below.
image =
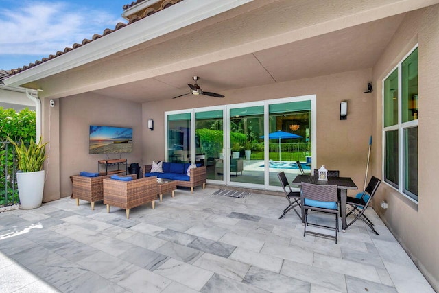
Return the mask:
M263 109L230 109L230 182L264 184Z

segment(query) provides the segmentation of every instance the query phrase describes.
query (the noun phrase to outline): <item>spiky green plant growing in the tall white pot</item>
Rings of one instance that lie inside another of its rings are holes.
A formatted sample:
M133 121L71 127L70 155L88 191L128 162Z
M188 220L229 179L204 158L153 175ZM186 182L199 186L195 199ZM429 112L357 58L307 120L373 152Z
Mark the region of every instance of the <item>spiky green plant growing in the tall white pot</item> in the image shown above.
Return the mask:
M46 159L45 145L47 143L41 143L41 138L38 143L34 142L34 139L30 139L29 146L26 146L23 139L20 145L15 141L12 141L8 137L10 143L12 143L16 150L16 156L19 161L19 169L23 172L36 172L43 169L43 163Z

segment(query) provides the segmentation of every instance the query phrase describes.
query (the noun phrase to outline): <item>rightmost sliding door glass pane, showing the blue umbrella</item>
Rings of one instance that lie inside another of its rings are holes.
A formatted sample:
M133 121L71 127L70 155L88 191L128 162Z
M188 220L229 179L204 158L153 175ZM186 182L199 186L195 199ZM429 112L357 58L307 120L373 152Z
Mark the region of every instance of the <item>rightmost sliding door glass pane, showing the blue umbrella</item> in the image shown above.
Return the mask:
M269 109L269 185L281 186L277 174L289 180L300 174L297 161L311 172L311 101L271 104Z

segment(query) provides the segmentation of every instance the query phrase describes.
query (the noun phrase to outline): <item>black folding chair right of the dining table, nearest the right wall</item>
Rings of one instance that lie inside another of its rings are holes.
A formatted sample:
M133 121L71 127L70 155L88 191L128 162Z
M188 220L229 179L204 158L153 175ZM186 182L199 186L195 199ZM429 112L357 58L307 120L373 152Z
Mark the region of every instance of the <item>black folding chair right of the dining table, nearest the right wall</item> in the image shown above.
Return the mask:
M372 176L372 178L370 178L369 180L368 186L366 187L366 189L364 189L364 192L363 194L361 194L361 196L348 196L348 198L346 198L346 209L349 210L348 213L346 213L346 218L348 217L348 215L355 215L355 218L351 222L346 224L346 228L351 226L358 219L361 219L372 229L372 231L375 232L375 234L379 235L373 227L372 221L370 221L369 218L364 215L364 211L366 211L369 202L372 201L372 198L375 195L375 192L377 191L380 183L381 180L379 180L375 176Z

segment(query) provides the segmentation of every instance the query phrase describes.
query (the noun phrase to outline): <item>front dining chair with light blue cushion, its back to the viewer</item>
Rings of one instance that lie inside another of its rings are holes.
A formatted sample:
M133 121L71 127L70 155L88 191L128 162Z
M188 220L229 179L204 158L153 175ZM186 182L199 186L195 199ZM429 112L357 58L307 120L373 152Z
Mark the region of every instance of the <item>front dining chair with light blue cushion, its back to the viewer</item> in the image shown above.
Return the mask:
M302 215L305 215L305 226L303 228L303 237L305 237L306 233L309 233L312 235L334 238L335 244L337 244L338 214L339 214L337 185L318 185L318 184L302 182L300 202L302 203ZM320 211L323 213L330 213L335 215L335 227L322 225L322 224L309 223L308 222L309 215L307 215L306 210ZM307 231L308 225L335 230L335 236L316 232L316 231Z

